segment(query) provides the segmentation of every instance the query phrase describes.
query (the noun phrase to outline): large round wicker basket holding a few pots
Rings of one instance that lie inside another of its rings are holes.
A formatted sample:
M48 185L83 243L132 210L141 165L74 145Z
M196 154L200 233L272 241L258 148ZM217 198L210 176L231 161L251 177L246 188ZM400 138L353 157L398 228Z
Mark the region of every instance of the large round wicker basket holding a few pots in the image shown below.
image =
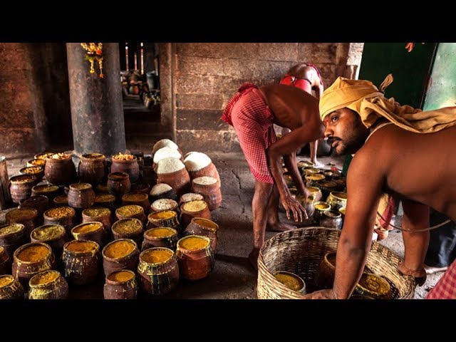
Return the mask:
M276 271L289 271L301 276L306 291L318 290L315 282L318 266L327 252L336 252L341 231L323 227L306 227L276 234L264 243L258 259L259 299L301 299L302 295L288 289L274 278ZM398 272L401 259L390 249L372 243L366 267L383 276L391 286L393 299L413 299L415 279Z

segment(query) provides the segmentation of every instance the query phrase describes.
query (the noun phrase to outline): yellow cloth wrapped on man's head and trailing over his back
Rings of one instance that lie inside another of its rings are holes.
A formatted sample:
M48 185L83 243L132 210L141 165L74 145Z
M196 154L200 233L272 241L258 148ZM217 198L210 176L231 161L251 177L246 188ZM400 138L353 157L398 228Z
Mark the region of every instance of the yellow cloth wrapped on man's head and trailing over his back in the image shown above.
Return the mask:
M410 105L400 105L394 98L385 98L383 90L392 82L391 74L386 76L380 88L371 81L338 77L321 96L321 120L334 110L349 108L361 116L367 128L381 117L415 133L432 133L456 125L456 107L423 112Z

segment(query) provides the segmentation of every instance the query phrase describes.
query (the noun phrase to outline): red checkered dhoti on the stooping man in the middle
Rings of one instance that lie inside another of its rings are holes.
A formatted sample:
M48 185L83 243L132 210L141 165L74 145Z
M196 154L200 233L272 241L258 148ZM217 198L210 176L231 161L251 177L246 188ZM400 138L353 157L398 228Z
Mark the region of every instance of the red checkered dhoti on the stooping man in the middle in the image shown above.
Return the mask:
M266 149L274 143L274 115L257 86L244 83L225 108L222 120L232 125L256 180L274 184Z

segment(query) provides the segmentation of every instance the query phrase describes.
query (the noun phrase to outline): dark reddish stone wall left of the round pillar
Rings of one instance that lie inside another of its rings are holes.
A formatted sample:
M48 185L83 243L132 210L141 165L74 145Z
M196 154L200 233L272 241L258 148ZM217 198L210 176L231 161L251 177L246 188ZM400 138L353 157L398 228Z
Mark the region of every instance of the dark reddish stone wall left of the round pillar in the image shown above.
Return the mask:
M23 157L71 142L65 44L0 43L1 154Z

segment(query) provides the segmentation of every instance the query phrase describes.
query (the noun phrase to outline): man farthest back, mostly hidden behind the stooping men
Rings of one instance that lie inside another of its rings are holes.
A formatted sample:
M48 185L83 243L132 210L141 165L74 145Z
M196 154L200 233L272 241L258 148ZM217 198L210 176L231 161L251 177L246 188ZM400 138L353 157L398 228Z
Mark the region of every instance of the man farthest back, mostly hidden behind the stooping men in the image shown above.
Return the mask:
M323 94L323 80L320 76L318 68L311 63L301 63L292 66L285 77L281 79L280 84L286 84L287 86L294 86L312 94L312 90L315 91L316 98L318 100ZM284 128L282 130L282 136L289 133L290 130ZM311 162L314 163L315 167L323 167L321 162L316 160L316 150L318 148L318 140L311 141L309 143L311 151ZM296 154L294 154L294 160L296 162Z

